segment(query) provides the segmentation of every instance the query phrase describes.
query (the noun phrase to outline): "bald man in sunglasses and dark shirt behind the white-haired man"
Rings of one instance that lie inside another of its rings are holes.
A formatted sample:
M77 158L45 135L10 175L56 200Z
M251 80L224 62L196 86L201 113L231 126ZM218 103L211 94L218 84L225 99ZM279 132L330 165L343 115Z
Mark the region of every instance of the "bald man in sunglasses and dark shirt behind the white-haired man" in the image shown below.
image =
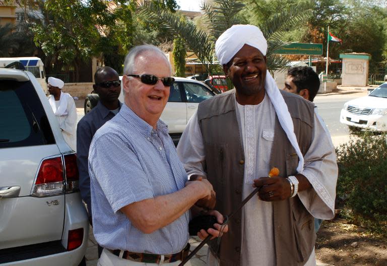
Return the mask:
M91 223L90 176L88 167L89 148L95 132L116 115L122 105L118 101L121 91L121 81L118 73L109 66L103 66L94 74L94 92L99 95L99 101L87 113L77 126L77 163L79 170L79 187L83 201L86 203ZM99 248L99 253L102 249Z

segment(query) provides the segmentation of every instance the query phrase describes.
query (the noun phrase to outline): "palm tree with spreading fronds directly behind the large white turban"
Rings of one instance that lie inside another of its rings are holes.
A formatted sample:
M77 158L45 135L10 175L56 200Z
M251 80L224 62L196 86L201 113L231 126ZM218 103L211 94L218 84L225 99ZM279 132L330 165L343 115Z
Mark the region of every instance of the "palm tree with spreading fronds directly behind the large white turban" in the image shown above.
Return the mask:
M216 69L219 69L219 65L213 64L215 41L232 25L245 24L241 17L237 16L244 7L245 5L237 0L213 0L212 4L203 4L202 11L205 13L205 24L208 31L200 30L191 23L181 21L176 14L161 9L153 2L143 3L139 10L146 20L159 24L183 39L185 44L198 55L199 61L205 65L209 75L212 75ZM268 40L267 66L269 70L283 69L288 63L286 57L274 53L285 44L281 40L283 31L302 23L310 15L311 11L294 7L272 16L263 25L257 25Z

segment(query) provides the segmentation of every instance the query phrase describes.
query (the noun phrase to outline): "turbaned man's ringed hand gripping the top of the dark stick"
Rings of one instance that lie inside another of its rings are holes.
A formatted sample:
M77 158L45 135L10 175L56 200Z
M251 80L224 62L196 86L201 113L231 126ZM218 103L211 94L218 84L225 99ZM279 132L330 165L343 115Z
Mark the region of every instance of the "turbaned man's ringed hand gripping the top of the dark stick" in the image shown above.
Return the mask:
M259 197L266 202L283 201L291 196L289 181L281 176L261 177L254 180L255 187L261 187Z

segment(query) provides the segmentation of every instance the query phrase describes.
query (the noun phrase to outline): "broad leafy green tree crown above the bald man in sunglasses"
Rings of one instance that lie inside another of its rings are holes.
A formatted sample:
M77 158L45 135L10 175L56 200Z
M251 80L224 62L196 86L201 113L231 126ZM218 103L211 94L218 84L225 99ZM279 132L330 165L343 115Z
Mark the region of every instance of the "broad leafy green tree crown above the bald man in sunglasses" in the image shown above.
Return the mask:
M119 71L118 61L132 46L134 9L132 1L47 0L44 21L32 27L34 40L51 58L48 64L74 68L75 81L92 56L102 54Z

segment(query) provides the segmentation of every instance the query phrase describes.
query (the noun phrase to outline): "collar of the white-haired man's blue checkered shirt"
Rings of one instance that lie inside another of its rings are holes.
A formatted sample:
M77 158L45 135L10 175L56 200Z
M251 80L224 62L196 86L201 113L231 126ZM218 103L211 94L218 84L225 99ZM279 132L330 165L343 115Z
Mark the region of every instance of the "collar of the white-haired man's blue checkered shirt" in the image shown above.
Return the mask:
M142 134L151 136L153 127L133 112L131 108L127 107L126 104L122 104L118 114L127 122L134 124ZM168 126L160 119L156 124L156 132L168 133Z

